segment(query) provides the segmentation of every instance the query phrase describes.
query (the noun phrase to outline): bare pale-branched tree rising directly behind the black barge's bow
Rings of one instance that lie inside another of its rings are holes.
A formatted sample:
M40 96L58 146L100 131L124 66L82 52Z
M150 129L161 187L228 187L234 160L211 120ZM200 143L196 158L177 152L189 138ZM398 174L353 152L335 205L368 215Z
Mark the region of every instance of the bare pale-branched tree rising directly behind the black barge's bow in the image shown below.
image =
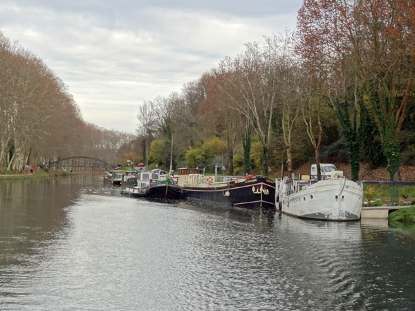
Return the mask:
M263 174L268 173L273 113L279 100L279 62L284 58L280 44L276 36L266 39L264 46L246 44L241 55L219 64L221 89L230 97L230 108L246 117L261 142Z

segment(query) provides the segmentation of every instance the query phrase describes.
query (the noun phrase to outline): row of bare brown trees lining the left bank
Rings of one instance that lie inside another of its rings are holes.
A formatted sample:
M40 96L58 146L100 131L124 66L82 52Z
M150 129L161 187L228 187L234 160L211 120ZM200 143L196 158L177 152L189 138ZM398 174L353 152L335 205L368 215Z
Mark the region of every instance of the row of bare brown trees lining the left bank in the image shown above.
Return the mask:
M84 122L64 82L0 32L0 169L23 171L68 156L116 163L131 139Z

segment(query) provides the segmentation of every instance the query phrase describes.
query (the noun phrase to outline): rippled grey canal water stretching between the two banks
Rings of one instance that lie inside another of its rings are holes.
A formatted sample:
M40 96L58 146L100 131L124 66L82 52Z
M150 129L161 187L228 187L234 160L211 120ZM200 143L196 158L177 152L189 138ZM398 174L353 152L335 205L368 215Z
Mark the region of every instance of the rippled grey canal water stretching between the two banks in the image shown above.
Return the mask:
M415 234L0 182L0 310L415 310Z

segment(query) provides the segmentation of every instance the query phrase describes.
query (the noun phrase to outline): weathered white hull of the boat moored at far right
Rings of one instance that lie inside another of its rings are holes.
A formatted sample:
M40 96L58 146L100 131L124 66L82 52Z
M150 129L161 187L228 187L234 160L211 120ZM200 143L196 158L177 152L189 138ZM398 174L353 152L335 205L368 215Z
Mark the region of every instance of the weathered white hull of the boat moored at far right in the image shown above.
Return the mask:
M281 189L281 182L278 185ZM279 211L299 218L359 220L362 199L362 187L358 183L338 178L321 180L288 196L279 191L276 205Z

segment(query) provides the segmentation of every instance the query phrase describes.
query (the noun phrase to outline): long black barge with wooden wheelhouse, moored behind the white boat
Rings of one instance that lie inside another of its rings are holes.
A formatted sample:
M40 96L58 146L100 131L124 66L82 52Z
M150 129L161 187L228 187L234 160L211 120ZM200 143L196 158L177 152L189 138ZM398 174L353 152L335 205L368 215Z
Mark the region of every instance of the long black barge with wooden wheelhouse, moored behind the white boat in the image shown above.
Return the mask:
M227 207L275 209L275 182L263 176L230 178L214 182L200 169L178 169L183 198Z

